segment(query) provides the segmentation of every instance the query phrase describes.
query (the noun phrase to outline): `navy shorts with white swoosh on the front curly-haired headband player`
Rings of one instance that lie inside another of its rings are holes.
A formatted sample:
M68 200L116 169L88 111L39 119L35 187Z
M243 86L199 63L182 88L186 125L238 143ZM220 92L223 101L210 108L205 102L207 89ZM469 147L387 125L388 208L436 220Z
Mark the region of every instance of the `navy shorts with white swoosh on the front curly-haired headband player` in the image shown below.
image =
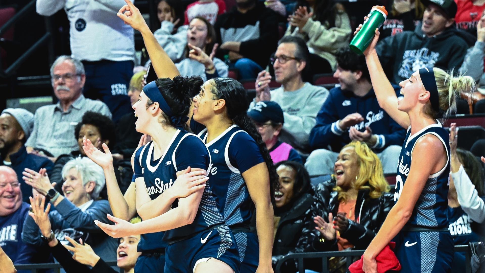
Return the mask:
M236 239L226 225L195 234L191 238L170 244L165 250L165 273L194 272L195 267L210 258L218 259L240 272Z

